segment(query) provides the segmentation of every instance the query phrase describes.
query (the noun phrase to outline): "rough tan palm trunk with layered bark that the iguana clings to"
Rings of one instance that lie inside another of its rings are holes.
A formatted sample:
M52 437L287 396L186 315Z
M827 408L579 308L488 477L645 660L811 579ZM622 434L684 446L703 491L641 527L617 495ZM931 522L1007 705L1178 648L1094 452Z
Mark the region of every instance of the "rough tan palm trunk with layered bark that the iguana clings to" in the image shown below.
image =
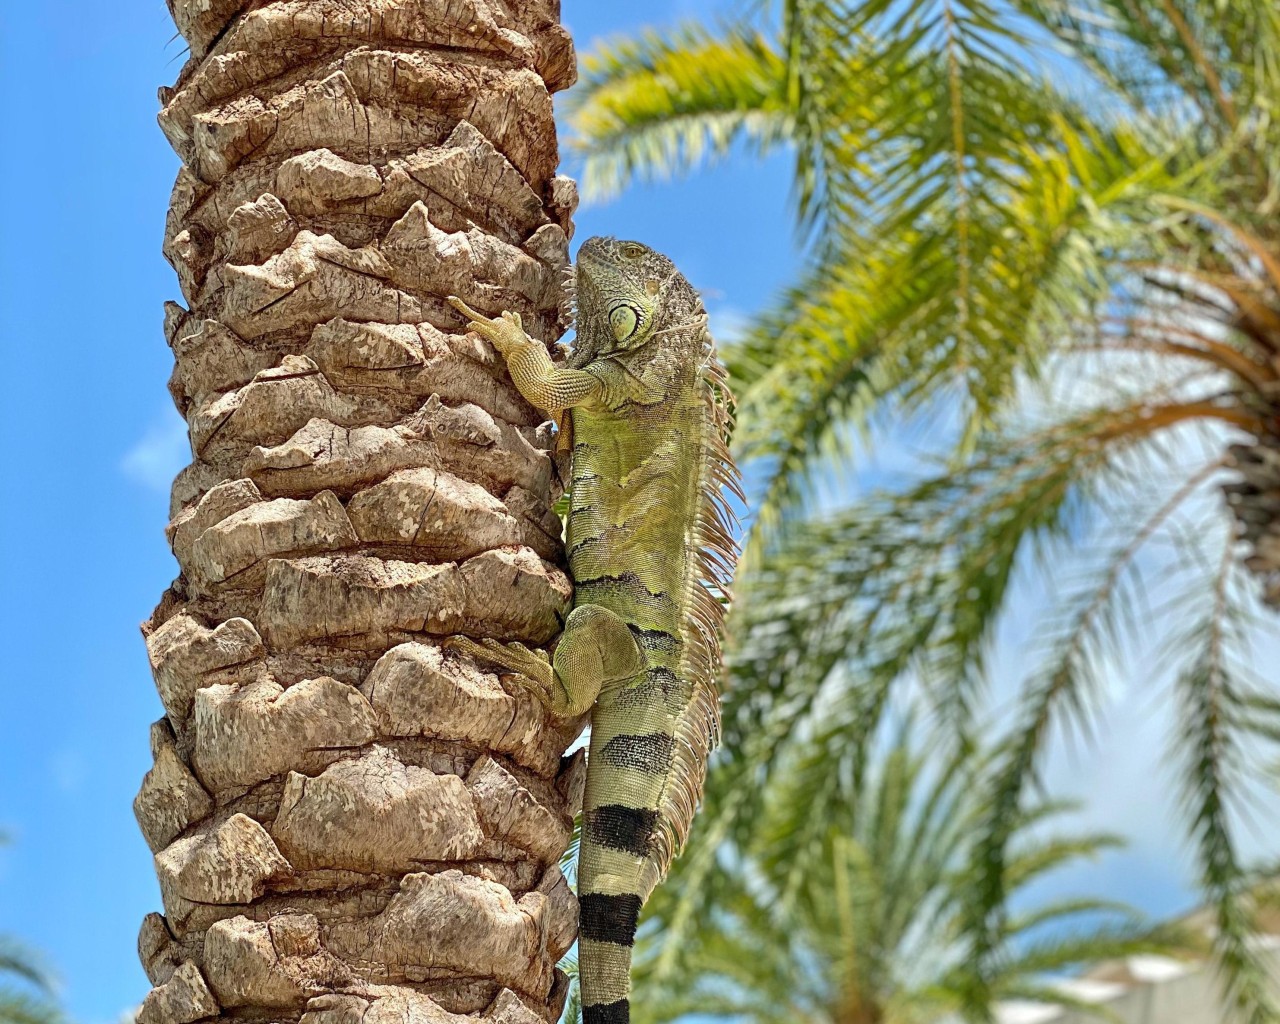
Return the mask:
M562 330L558 3L169 5L195 461L143 626L141 1024L554 1020L579 723L440 641L544 645L570 598L548 428L444 302Z

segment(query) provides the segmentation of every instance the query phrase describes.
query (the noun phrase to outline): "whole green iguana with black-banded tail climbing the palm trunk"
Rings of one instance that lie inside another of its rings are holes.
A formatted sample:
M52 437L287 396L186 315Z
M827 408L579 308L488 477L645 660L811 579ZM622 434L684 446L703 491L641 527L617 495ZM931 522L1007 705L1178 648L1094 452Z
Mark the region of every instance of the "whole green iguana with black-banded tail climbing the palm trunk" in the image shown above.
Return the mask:
M717 677L741 498L728 388L698 293L666 256L591 238L576 268L566 367L520 315L451 298L512 380L571 435L573 611L550 662L520 644L452 644L525 678L553 713L591 713L579 854L585 1024L630 1020L640 908L689 833L719 731Z

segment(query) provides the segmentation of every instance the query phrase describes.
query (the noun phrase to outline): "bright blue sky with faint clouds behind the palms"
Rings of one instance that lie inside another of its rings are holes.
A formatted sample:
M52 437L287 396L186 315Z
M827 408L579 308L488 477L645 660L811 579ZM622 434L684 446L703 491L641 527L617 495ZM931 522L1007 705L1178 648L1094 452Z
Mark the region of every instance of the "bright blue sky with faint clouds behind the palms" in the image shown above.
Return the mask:
M730 6L564 0L564 18L586 50L604 33ZM15 838L0 851L0 932L47 954L86 1024L141 1000L134 940L159 906L131 801L160 714L138 622L175 571L163 527L168 481L187 461L160 330L163 302L178 297L160 256L177 160L155 125L156 87L182 63L172 37L161 0L0 8L0 338L17 376L0 406L0 828ZM584 209L579 238L666 251L730 325L796 269L787 183L785 156L723 165ZM1064 769L1098 797L1091 823L1142 833L1089 888L1170 913L1188 890L1167 806L1140 776L1116 782L1160 716L1140 700L1121 710L1084 768Z

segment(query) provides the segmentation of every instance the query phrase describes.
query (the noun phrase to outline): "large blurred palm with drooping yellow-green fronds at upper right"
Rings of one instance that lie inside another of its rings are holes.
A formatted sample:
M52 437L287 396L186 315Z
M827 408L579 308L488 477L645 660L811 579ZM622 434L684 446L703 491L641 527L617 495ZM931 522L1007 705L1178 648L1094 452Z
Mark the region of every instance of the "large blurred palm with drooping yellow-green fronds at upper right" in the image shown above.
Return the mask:
M795 156L803 279L730 352L760 500L726 714L742 774L704 829L744 838L744 781L786 763L814 707L858 748L914 684L965 741L1011 582L1047 557L973 952L1000 942L1012 812L1052 726L1088 727L1103 666L1156 626L1219 954L1249 1019L1276 1019L1233 801L1280 707L1245 657L1275 627L1256 595L1280 596L1277 100L1263 0L788 0L586 61L595 191L735 147ZM829 515L817 481L890 417L928 425L945 462Z

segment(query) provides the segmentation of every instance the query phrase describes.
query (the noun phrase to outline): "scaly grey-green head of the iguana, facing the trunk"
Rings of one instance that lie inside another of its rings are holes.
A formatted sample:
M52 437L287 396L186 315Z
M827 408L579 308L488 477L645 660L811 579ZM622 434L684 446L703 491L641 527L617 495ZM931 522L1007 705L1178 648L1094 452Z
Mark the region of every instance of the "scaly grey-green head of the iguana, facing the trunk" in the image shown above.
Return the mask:
M589 238L577 253L579 353L627 352L700 303L676 265L639 242Z

